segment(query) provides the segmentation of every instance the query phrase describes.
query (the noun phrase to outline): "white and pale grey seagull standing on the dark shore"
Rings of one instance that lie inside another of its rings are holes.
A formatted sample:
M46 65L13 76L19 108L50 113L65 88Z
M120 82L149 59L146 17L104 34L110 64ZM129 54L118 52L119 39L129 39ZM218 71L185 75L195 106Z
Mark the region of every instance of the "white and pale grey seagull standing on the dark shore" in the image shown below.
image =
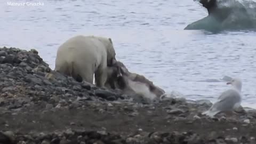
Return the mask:
M229 90L222 92L212 107L204 111L202 114L213 117L220 111L232 111L233 108L239 106L242 101L241 90L242 81L239 78L232 78L230 82L227 83L231 85Z

